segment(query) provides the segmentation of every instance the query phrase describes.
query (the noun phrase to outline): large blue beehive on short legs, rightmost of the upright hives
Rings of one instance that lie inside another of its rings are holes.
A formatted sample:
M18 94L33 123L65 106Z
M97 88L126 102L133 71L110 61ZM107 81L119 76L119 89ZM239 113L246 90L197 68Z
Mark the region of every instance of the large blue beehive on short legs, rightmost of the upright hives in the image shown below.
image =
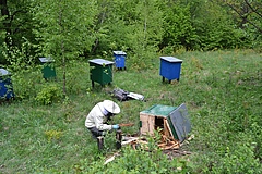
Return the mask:
M160 76L171 83L172 79L179 80L182 60L174 57L160 57Z

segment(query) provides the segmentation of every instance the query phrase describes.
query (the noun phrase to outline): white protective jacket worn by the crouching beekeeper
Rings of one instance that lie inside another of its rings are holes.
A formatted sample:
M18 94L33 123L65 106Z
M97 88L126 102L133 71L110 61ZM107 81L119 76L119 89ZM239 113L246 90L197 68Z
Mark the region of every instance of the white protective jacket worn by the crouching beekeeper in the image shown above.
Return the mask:
M88 113L85 120L85 127L92 128L96 127L99 130L110 130L112 129L112 125L104 124L105 116L105 108L103 102L98 102Z

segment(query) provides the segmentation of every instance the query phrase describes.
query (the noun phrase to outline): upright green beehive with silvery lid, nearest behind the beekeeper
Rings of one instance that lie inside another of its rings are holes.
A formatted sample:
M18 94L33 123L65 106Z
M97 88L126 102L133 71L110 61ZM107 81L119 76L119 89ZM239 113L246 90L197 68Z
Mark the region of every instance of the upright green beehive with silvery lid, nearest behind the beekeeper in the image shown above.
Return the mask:
M114 62L104 59L90 60L90 78L92 80L92 87L94 83L100 85L110 84L112 82L112 64Z

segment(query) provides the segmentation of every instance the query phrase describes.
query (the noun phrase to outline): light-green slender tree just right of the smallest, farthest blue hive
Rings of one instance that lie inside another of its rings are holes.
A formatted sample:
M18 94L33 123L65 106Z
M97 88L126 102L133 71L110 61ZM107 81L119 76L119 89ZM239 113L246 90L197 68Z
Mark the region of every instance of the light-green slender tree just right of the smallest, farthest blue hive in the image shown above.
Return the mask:
M157 4L156 0L138 1L132 12L134 16L129 20L127 47L131 50L130 62L138 70L150 67L147 62L156 55L163 36L163 12Z

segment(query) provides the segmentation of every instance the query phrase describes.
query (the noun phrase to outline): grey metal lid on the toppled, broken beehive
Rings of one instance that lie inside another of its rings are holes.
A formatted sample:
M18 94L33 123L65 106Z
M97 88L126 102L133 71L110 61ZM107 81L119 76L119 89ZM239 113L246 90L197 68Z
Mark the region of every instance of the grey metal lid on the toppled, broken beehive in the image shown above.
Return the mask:
M189 132L191 132L191 125L186 104L182 103L179 105L169 114L169 117L175 127L179 141L183 141Z

